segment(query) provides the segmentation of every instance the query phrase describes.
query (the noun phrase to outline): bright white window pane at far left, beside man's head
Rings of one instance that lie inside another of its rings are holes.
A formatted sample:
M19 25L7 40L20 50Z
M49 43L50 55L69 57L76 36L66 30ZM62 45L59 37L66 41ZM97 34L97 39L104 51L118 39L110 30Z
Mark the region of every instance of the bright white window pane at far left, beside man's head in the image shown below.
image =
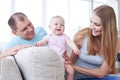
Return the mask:
M11 12L10 4L10 0L0 0L0 42L6 42L10 38L10 34L8 34L10 33L10 29L7 24Z

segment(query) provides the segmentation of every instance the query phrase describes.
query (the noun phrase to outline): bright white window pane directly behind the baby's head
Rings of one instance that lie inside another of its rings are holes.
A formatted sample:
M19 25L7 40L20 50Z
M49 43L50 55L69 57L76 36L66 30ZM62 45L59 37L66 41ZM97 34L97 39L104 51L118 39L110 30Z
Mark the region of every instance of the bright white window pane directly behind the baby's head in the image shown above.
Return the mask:
M48 29L48 24L50 22L51 17L55 15L60 15L64 18L65 20L65 31L68 32L67 29L68 27L68 0L47 0L47 19L46 19L46 28L47 31L49 32Z

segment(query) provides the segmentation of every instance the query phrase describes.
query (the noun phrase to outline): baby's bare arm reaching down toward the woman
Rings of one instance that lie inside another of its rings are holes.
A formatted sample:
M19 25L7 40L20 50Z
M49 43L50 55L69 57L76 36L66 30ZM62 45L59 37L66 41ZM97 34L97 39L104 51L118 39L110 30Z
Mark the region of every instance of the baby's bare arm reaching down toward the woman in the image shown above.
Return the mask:
M80 50L77 48L77 46L75 45L75 43L72 40L70 40L69 38L67 38L66 42L70 46L70 48L72 48L72 50L74 51L74 53L76 55L80 54Z

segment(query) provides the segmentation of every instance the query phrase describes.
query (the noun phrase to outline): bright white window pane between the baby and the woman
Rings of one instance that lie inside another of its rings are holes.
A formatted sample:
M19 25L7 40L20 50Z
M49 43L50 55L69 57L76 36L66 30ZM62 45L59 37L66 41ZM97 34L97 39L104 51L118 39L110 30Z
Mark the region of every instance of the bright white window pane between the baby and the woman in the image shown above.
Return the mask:
M88 0L70 0L69 12L69 34L73 35L81 28L89 27L89 1Z

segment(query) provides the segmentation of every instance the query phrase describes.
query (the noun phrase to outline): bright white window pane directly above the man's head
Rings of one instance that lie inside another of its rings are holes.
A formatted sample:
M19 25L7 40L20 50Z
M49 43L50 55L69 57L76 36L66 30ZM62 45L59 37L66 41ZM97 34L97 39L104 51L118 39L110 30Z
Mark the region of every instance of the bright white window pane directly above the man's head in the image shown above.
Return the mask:
M15 0L15 11L25 13L34 27L41 26L42 0Z

